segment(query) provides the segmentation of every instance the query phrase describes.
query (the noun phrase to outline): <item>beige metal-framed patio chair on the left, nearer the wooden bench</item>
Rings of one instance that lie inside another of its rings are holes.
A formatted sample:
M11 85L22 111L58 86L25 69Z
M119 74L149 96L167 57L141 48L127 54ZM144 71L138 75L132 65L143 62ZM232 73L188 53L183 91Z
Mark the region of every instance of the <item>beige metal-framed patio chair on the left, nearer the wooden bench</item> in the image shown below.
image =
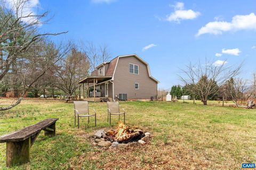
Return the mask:
M74 101L74 112L75 112L75 125L77 117L77 125L79 128L79 117L88 117L88 123L90 122L90 117L94 116L95 127L96 127L96 111L93 109L94 114L89 114L89 104L88 101Z

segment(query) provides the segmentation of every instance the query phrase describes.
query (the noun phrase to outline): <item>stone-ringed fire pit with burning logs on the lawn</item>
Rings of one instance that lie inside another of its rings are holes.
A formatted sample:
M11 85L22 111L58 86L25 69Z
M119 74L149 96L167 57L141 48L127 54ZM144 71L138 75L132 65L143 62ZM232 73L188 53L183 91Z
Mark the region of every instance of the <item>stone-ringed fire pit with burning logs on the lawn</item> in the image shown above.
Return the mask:
M145 145L150 141L151 134L140 129L129 128L119 123L116 130L99 130L94 134L93 145L109 148L126 148Z

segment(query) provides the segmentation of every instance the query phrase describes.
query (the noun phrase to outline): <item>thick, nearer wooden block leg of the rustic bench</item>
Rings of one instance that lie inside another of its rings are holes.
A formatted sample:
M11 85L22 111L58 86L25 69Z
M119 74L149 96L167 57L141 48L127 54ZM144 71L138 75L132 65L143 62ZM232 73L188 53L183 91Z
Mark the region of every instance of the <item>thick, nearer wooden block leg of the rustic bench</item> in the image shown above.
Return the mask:
M6 143L6 166L25 164L30 157L30 138L20 142Z

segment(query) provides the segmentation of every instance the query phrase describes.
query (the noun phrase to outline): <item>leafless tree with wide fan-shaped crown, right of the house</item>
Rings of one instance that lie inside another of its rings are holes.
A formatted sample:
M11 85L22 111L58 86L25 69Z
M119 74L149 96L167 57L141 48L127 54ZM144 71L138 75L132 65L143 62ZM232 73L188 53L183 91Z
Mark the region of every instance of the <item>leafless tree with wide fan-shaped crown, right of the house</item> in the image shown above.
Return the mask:
M185 84L191 84L196 94L201 97L204 105L207 105L207 100L215 96L219 91L219 86L222 86L231 77L235 77L242 67L242 64L234 68L234 66L225 66L226 62L214 64L205 60L205 63L193 65L191 62L181 69L180 79Z

